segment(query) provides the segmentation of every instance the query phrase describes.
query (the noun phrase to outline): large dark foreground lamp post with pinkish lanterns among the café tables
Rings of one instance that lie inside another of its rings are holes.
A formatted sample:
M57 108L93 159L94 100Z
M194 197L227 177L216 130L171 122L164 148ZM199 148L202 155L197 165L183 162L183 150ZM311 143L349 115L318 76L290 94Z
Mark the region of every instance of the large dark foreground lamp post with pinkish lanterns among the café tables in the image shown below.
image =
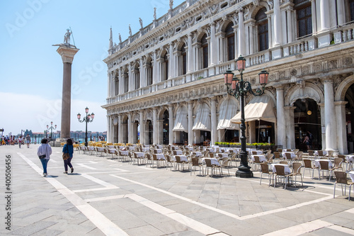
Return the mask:
M265 84L268 82L268 72L264 69L258 74L259 83L261 84L261 89L257 89L255 92L252 90L252 86L250 82L244 81L243 74L244 69L246 67L246 59L240 55L240 57L236 60L236 69L239 70L241 75L241 79L237 79L234 77L234 73L231 70L227 70L224 73L225 84L227 86L227 94L236 97L236 99L240 98L240 106L241 106L241 163L236 171L236 177L241 178L251 178L253 177L253 172L251 171L251 167L249 167L249 163L247 160L247 152L246 152L246 124L244 118L244 96L247 92L253 94L254 96L261 96L264 94Z

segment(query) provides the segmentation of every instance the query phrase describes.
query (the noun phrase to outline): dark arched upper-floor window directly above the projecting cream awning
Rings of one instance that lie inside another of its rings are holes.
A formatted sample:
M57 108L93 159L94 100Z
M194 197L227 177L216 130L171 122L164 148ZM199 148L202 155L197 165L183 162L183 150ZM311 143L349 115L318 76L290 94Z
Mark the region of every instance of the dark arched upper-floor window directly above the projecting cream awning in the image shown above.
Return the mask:
M268 20L265 14L265 7L256 14L256 26L258 28L258 50L261 52L267 50L268 44Z

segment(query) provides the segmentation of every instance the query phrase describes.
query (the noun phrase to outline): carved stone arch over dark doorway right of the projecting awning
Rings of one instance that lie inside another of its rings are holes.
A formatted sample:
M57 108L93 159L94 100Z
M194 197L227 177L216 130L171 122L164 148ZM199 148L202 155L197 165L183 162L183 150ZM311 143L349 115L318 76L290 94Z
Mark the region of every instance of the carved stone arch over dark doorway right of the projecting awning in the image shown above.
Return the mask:
M304 88L292 86L285 96L285 106L292 106L297 99L313 99L317 103L324 103L324 93L312 83L306 83Z

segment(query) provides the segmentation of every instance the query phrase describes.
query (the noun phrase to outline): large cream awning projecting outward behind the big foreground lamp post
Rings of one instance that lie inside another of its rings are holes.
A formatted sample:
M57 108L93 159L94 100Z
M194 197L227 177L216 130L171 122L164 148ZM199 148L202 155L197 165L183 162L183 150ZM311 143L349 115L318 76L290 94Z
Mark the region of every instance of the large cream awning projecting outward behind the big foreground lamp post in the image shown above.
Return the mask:
M244 117L245 121L253 120L265 120L268 122L277 122L277 118L274 113L274 103L269 96L255 96L253 99L244 107ZM234 118L231 119L232 123L241 123L241 112L237 113Z

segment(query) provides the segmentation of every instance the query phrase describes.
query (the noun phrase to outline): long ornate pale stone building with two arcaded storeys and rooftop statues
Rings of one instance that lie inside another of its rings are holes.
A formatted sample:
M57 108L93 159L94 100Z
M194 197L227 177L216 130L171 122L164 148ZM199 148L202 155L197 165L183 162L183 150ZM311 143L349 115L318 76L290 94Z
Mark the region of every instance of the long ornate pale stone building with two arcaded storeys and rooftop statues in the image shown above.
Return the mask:
M171 1L172 3L172 1ZM223 73L246 58L244 79L273 118L247 122L248 142L353 152L354 0L187 0L122 41L110 37L108 142L238 142L239 101ZM260 99L262 98L262 99ZM258 111L258 110L256 110ZM246 113L246 121L248 114Z

